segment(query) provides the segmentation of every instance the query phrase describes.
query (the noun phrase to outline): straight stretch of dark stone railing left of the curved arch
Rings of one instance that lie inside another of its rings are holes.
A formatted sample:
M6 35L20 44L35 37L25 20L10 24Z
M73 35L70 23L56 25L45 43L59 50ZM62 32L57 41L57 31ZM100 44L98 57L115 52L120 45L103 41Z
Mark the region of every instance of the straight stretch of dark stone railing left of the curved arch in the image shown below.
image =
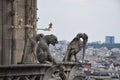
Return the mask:
M0 66L0 80L43 80L48 64L18 64Z

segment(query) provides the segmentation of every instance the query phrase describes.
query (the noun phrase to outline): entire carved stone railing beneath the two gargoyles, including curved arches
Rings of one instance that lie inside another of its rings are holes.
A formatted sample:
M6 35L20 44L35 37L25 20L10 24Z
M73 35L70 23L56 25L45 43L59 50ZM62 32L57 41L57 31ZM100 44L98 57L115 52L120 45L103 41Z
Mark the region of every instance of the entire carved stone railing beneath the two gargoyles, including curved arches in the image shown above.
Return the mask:
M74 80L80 65L73 62L50 64L1 65L0 80L52 80L59 73L59 80ZM58 76L58 78L59 78ZM78 76L78 75L77 75ZM57 79L56 79L57 80Z

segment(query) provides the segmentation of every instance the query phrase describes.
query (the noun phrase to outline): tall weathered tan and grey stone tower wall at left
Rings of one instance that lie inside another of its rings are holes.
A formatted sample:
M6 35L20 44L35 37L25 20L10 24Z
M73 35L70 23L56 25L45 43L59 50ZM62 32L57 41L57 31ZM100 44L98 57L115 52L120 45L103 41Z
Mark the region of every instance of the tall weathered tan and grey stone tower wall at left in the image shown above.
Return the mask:
M26 31L24 27L11 27L17 27L15 21L20 19L23 20L23 25L31 20L30 25L36 27L36 22L32 23L36 20L36 12L36 0L0 0L0 65L17 63L16 56L18 59L23 54L27 40Z

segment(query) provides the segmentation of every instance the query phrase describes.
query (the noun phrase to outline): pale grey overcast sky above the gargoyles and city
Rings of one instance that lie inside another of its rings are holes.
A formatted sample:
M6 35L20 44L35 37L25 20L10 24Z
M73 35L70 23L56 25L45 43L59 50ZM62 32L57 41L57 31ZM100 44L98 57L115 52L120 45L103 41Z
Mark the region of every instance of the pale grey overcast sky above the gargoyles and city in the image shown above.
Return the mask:
M53 23L51 31L58 40L71 41L77 33L88 34L89 42L115 36L120 43L120 0L38 0L38 28Z

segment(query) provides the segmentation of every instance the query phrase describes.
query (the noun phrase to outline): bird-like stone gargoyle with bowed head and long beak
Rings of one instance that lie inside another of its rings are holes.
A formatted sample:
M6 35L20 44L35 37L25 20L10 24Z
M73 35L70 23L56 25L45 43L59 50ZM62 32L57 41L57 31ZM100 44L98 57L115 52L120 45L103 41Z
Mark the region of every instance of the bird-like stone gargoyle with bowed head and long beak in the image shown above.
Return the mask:
M81 38L83 41L81 41ZM78 33L76 37L70 42L70 44L67 47L67 52L63 58L64 62L69 62L71 61L72 56L74 56L75 61L78 62L76 54L83 48L83 56L82 56L82 61L84 59L84 54L85 54L85 47L86 43L88 41L88 36L85 33Z

